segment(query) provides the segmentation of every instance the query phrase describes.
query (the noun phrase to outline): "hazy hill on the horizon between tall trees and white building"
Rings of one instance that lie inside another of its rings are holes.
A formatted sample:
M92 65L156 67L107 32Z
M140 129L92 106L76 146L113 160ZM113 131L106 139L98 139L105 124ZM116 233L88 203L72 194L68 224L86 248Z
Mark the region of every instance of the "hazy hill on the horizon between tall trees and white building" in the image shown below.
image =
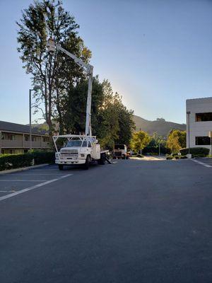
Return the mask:
M185 124L167 122L162 118L158 118L156 121L149 121L134 115L134 122L136 124L136 131L143 130L150 135L152 135L153 132L157 132L161 136L166 137L171 129L186 130Z

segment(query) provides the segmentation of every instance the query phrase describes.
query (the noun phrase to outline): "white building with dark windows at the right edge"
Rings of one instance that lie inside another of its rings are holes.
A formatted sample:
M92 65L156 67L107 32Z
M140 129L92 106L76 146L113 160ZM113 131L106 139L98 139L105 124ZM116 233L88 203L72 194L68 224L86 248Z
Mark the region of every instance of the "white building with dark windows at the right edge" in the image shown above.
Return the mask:
M212 97L187 100L187 147L206 147L211 150ZM210 153L212 154L212 153Z

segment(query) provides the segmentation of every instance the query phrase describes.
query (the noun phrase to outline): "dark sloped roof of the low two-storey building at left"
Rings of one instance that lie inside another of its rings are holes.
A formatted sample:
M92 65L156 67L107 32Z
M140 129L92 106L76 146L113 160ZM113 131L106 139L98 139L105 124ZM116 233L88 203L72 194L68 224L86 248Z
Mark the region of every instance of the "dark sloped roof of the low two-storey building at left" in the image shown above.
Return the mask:
M21 125L11 122L0 121L0 131L30 133L30 126ZM32 127L32 134L48 134L45 129L39 129L38 127Z

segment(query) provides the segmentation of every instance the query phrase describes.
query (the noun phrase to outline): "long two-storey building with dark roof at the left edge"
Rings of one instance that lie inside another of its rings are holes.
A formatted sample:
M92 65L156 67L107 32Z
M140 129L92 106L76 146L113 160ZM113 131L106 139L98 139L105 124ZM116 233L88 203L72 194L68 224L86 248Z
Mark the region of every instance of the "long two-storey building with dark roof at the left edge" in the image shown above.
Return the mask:
M32 148L48 149L49 137L46 131L32 129ZM30 127L0 121L0 154L19 154L30 149Z

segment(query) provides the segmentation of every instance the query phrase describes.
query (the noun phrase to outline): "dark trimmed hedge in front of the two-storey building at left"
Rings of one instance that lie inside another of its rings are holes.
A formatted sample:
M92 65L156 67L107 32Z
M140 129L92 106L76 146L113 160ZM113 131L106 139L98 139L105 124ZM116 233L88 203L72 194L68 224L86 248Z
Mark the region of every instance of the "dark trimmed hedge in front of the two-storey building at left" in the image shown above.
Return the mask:
M54 152L32 152L27 154L3 154L0 155L0 171L20 167L31 166L33 164L54 163Z

